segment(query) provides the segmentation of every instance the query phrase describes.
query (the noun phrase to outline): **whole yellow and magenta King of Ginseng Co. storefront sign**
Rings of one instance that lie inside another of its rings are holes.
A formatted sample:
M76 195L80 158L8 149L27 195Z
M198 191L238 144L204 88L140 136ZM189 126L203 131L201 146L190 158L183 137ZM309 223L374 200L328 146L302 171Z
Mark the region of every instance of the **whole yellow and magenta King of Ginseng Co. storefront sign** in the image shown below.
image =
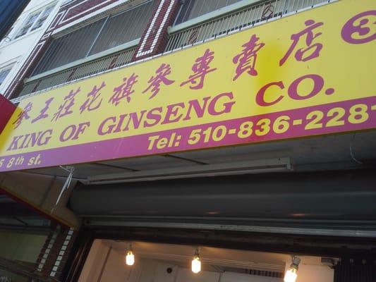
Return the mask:
M376 128L374 0L342 0L24 99L0 171Z

